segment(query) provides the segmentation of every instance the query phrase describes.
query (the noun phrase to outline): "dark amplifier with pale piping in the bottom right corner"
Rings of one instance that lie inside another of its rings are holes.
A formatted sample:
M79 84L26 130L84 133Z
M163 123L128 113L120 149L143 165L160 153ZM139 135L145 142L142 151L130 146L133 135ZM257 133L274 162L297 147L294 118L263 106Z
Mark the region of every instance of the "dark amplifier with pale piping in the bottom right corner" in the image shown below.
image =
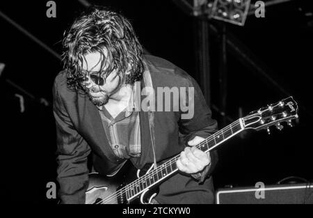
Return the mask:
M313 204L313 185L268 185L218 189L217 204Z

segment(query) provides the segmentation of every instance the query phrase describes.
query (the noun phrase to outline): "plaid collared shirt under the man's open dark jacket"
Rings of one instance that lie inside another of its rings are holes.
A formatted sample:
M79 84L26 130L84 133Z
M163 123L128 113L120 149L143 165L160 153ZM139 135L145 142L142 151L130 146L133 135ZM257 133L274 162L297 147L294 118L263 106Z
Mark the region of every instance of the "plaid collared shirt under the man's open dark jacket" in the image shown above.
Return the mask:
M113 153L120 157L140 157L141 156L141 127L139 112L135 110L136 97L140 95L140 84L135 83L128 107L113 118L105 107L99 110L102 119L104 132L113 150ZM139 93L138 93L139 92Z

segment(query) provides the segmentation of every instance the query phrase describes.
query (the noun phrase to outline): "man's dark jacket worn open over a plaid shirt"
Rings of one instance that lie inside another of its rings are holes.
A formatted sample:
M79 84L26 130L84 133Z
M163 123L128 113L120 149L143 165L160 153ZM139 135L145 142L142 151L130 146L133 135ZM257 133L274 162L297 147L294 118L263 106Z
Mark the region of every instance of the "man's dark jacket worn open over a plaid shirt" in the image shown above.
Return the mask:
M179 132L192 139L195 135L209 137L216 132L216 120L204 101L198 84L182 69L155 56L145 56L150 70L152 84L157 87L194 87L194 115L191 119L181 119L182 111L156 111L154 132L157 162L177 155L184 149L179 143ZM144 87L143 81L141 82ZM63 203L84 203L88 187L88 155L94 154L93 165L103 174L112 173L123 162L113 154L104 134L97 107L88 96L67 87L64 72L60 72L54 82L54 116L57 133L57 161L59 196ZM142 95L141 100L146 96ZM157 98L156 98L157 99ZM164 99L164 98L163 98ZM150 130L147 112L140 111L141 157L131 158L136 168L153 163ZM212 164L216 164L216 154L211 153ZM213 169L214 167L211 167ZM177 173L163 182L157 196L160 203L212 203L213 184L211 178L199 184L191 176Z

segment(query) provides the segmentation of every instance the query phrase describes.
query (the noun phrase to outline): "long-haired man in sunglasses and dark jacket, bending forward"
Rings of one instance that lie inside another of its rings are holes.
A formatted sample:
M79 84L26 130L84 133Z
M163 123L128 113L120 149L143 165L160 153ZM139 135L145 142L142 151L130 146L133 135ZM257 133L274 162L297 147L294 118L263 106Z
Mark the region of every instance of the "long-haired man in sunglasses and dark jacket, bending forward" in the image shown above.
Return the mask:
M217 155L195 145L214 134L217 123L195 80L164 59L143 55L129 21L105 8L78 17L65 32L63 47L64 70L53 93L62 203L86 203L88 159L93 171L113 178L125 160L143 169L178 154L179 173L160 182L150 202L213 203L210 175ZM148 86L156 104L145 110ZM159 107L168 104L157 93L164 87L177 88L173 98L179 96L180 106L186 94L188 110Z

